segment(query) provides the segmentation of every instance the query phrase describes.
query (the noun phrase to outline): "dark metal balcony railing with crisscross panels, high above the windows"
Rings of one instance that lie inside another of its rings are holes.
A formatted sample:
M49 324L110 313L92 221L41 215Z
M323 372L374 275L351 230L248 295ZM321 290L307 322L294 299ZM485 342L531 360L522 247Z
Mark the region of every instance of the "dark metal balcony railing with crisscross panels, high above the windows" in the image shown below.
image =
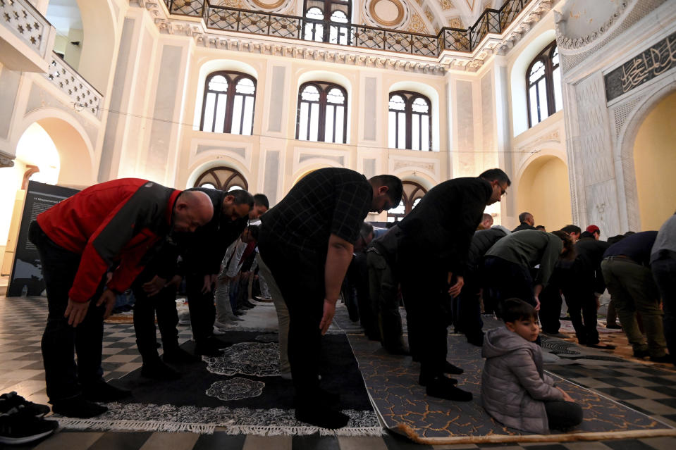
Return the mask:
M419 56L439 56L444 50L474 51L488 33L502 33L530 1L507 0L500 9L486 9L467 30L443 27L437 35L227 8L212 5L207 0L164 0L164 3L170 14L203 18L210 30L312 40Z

